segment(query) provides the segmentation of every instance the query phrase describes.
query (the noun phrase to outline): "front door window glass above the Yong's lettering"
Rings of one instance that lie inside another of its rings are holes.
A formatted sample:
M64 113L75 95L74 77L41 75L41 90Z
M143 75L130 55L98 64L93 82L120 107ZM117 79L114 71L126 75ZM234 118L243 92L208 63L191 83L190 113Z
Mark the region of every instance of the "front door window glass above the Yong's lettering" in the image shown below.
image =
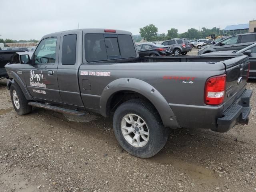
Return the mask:
M47 38L42 40L35 51L35 64L54 64L56 59L57 38Z

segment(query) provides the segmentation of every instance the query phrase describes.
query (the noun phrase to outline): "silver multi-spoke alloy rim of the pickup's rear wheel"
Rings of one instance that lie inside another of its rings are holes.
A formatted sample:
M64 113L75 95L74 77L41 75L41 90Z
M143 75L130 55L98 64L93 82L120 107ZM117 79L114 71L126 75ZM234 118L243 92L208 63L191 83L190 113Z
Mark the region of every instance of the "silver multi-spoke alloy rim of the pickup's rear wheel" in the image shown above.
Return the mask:
M148 143L149 130L146 122L136 114L127 114L121 121L121 131L125 140L134 147Z

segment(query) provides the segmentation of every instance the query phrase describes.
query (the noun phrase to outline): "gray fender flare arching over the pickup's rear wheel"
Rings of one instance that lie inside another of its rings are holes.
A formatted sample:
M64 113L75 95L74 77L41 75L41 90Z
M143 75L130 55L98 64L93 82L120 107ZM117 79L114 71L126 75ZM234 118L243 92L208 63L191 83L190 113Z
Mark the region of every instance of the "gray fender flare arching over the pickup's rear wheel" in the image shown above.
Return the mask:
M116 92L133 91L145 96L155 106L165 127L178 128L180 125L165 98L150 84L136 78L120 78L108 84L100 97L100 113L107 116L109 98Z

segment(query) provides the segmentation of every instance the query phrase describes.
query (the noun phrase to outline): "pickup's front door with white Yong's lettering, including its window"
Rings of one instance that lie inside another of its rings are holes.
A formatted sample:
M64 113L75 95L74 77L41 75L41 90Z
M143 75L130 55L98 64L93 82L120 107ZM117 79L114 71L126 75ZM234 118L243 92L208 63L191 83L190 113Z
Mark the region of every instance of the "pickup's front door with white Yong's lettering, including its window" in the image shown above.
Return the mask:
M41 40L32 64L23 72L28 91L35 100L62 102L57 80L59 45L60 35Z

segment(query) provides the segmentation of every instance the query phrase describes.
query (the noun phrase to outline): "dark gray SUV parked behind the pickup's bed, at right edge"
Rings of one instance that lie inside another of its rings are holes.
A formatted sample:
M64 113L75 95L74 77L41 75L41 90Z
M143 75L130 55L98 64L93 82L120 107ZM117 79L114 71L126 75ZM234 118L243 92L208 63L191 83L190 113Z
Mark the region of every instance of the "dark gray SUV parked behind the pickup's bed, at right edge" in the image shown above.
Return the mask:
M256 33L244 33L230 36L213 45L206 45L198 50L198 55L216 51L241 50L256 42Z

